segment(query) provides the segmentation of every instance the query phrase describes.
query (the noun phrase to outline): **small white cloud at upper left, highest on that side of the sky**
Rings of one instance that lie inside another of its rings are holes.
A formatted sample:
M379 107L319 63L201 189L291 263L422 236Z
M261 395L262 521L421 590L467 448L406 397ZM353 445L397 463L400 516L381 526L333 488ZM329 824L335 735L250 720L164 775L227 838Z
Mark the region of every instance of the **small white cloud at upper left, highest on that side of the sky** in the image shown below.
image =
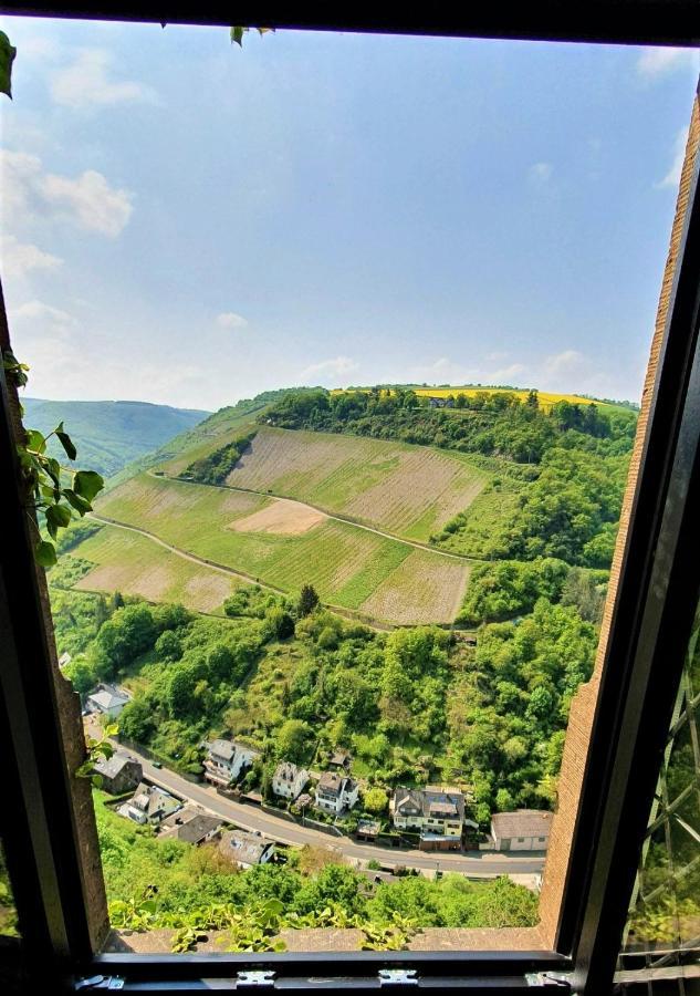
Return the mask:
M113 76L114 56L104 49L82 49L72 65L56 70L50 80L54 103L84 110L116 104L155 103L150 86Z

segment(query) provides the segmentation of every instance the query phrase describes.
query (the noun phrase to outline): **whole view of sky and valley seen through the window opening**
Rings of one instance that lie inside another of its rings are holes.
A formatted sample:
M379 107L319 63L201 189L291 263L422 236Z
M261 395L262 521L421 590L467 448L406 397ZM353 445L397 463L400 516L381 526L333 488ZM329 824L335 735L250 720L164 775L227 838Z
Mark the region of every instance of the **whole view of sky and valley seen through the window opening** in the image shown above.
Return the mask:
M11 25L24 423L106 480L48 577L111 943L537 947L692 66Z

